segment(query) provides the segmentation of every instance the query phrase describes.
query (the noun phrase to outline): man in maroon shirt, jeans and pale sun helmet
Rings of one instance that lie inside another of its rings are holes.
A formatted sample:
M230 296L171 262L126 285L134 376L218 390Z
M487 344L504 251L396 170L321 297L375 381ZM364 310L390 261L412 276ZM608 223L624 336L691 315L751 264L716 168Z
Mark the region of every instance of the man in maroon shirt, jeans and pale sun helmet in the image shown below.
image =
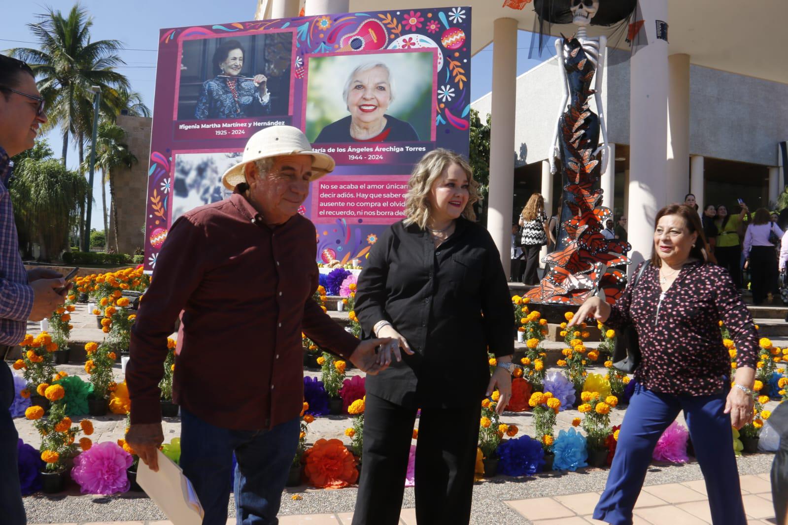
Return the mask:
M381 369L375 348L390 340L359 343L312 300L315 229L298 209L310 181L333 167L297 128L258 131L223 176L232 196L181 216L158 253L132 328L126 439L158 470L158 383L180 315L173 379L180 467L203 505L203 523L227 521L232 453L238 523L277 523L299 440L302 331L367 373Z

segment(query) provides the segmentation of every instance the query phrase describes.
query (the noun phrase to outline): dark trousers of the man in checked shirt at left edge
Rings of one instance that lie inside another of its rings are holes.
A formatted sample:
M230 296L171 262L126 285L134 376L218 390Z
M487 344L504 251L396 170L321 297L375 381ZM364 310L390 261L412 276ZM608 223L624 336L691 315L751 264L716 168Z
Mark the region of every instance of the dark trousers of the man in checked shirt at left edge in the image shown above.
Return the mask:
M22 493L19 486L17 442L19 434L13 425L11 412L14 388L11 369L0 363L0 516L2 523L24 525Z

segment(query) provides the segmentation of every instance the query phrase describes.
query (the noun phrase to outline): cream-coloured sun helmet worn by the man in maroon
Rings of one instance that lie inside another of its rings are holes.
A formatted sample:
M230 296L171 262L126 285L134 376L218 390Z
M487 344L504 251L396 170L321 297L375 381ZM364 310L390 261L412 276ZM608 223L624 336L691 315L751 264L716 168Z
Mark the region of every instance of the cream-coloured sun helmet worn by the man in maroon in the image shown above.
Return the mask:
M246 147L243 148L243 160L229 168L221 176L221 182L228 190L235 190L238 184L246 182L246 175L243 172L244 165L282 155L311 155L313 175L310 180L319 179L334 169L333 158L325 153L313 151L307 136L299 128L270 126L251 135Z

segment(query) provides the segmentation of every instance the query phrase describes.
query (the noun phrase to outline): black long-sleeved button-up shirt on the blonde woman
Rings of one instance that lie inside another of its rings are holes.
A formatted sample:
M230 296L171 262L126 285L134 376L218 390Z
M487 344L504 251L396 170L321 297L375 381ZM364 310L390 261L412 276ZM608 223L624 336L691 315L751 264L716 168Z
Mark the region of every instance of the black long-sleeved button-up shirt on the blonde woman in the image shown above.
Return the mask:
M413 356L366 378L366 390L407 406L478 402L489 382L487 351L514 353L504 268L484 227L459 219L435 247L417 226L392 224L359 275L355 313L371 335L388 320Z

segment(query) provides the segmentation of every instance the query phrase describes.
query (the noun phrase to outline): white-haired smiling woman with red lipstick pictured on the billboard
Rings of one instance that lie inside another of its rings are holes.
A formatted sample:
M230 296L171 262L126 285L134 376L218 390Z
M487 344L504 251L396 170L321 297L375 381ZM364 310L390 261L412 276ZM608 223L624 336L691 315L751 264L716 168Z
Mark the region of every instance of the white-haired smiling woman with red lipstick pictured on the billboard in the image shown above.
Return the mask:
M323 128L314 142L418 141L411 124L386 114L394 94L394 79L387 65L359 65L348 76L342 91L350 116Z

